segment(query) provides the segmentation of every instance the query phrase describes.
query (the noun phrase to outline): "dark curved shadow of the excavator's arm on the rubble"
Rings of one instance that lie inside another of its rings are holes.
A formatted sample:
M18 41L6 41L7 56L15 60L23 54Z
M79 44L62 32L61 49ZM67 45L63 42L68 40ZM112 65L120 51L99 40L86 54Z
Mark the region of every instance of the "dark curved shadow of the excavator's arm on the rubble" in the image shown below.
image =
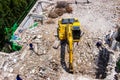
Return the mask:
M61 62L62 68L66 72L69 73L69 68L67 67L67 64L65 62L65 49L66 49L67 43L66 43L66 41L61 41L60 44L61 44L61 50L60 50L60 53L61 53L60 58L61 58L61 60L60 60L60 62Z

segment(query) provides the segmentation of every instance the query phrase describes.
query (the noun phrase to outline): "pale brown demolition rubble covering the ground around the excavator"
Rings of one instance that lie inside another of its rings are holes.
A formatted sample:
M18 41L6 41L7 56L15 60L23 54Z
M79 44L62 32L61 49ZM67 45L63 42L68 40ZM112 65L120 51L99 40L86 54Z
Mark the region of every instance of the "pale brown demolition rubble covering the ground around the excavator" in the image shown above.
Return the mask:
M70 1L73 4L65 1L57 2L57 0L51 0L50 4L44 1L41 3L43 6L41 11L47 19L41 24L41 19L34 18L34 22L37 21L38 25L24 30L21 40L18 41L18 44L23 46L20 51L9 54L0 53L0 80L15 80L17 74L20 74L23 80L83 80L84 78L92 80L96 78L99 70L104 70L107 80L114 78L116 74L114 68L119 52L111 50L104 44L104 38L115 24L119 24L120 2L90 0L90 3L86 4L84 0L76 0L79 3L74 4L74 0ZM57 40L59 17L76 17L83 27L84 35L78 45L74 45L74 74L67 73L69 65L67 48L65 54L61 53L61 45L58 49L53 48ZM101 51L96 47L99 39L104 44ZM33 50L29 49L30 43L33 44ZM99 60L101 59L99 54L104 53L104 50L106 57ZM110 54L109 61L106 60L108 54ZM102 64L104 60L106 60L105 65Z

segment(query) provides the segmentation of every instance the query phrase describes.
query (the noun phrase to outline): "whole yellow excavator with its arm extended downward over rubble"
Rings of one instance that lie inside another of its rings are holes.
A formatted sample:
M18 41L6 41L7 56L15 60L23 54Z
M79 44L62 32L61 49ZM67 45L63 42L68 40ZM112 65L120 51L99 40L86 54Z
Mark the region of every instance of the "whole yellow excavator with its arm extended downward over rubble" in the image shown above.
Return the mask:
M73 43L80 41L80 22L77 18L59 19L57 33L59 40L65 40L68 44L69 72L73 73Z

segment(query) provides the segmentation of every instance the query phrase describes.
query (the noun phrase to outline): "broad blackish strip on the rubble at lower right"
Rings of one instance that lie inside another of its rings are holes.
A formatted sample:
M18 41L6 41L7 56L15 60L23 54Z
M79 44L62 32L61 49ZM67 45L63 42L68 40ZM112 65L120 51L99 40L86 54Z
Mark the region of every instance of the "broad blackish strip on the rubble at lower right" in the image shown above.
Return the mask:
M104 79L107 76L107 66L110 60L110 54L113 52L108 51L107 48L102 48L99 50L99 55L97 59L97 69L96 69L96 79Z

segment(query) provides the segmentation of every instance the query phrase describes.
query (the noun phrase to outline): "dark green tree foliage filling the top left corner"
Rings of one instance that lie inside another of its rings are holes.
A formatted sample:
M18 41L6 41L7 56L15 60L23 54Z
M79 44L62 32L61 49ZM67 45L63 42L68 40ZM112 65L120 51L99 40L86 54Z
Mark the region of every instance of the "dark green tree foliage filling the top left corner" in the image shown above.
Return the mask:
M0 50L6 42L5 28L11 28L32 0L0 0Z

